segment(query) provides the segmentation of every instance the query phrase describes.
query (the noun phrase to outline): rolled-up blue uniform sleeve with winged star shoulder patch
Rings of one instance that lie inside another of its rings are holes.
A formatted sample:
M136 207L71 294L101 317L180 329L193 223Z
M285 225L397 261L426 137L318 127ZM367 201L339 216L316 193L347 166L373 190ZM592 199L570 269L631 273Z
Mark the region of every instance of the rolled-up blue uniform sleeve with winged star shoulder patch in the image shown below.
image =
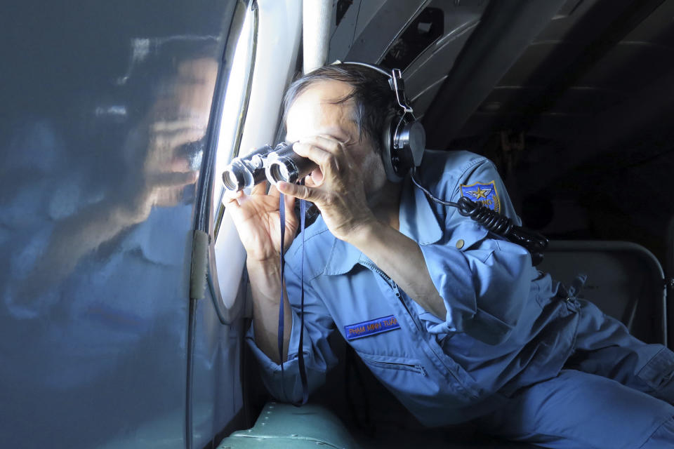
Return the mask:
M456 185L445 188L454 192L452 201L473 192L480 196L477 201L491 204L520 225L491 161L478 161L451 182ZM485 193L488 189L494 192ZM430 277L447 308L444 322L430 326L430 332L465 332L487 344L507 340L536 277L529 252L487 232L458 210L447 213L444 227L442 241L421 245Z

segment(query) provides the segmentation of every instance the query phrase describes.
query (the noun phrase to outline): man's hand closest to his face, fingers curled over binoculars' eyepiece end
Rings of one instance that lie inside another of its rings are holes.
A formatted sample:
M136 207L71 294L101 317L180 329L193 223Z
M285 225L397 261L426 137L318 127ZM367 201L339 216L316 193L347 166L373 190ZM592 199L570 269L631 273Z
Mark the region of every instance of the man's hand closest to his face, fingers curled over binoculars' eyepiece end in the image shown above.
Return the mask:
M341 240L376 222L366 199L364 173L349 145L329 135L315 135L296 142L293 150L318 168L306 185L279 182L279 191L315 203L327 227Z

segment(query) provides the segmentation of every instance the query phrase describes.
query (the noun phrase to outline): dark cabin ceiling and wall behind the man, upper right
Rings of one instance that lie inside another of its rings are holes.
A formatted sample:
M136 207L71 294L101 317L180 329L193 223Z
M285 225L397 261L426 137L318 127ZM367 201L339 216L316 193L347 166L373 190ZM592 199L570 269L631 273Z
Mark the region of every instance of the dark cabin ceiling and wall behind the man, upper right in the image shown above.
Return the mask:
M553 19L536 20L546 8ZM428 147L494 160L528 227L663 259L673 13L670 1L430 1L402 28L378 13L342 58L404 69Z

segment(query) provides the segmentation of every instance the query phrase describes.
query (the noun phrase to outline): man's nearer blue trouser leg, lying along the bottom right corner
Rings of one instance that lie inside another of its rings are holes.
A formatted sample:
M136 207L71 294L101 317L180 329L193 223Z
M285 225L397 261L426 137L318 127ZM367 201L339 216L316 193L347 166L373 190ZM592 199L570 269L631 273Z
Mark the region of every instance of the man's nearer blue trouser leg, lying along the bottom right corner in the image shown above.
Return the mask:
M576 370L515 391L483 431L546 448L674 448L674 406Z

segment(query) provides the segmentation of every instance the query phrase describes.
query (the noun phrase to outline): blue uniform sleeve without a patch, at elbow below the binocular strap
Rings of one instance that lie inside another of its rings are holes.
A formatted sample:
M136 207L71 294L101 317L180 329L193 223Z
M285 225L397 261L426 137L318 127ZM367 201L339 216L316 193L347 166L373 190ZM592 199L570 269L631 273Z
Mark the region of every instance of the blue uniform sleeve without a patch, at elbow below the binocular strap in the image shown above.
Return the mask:
M302 399L302 382L298 366L298 345L300 341L300 277L286 264L286 290L292 309L293 327L288 347L288 358L281 366L261 351L254 340L253 325L246 335L253 354L258 359L260 372L267 391L279 401L297 402ZM333 321L322 300L315 294L309 283L304 286L304 339L303 355L307 370L309 391L314 391L325 382L326 372L337 363L327 341L333 328Z

